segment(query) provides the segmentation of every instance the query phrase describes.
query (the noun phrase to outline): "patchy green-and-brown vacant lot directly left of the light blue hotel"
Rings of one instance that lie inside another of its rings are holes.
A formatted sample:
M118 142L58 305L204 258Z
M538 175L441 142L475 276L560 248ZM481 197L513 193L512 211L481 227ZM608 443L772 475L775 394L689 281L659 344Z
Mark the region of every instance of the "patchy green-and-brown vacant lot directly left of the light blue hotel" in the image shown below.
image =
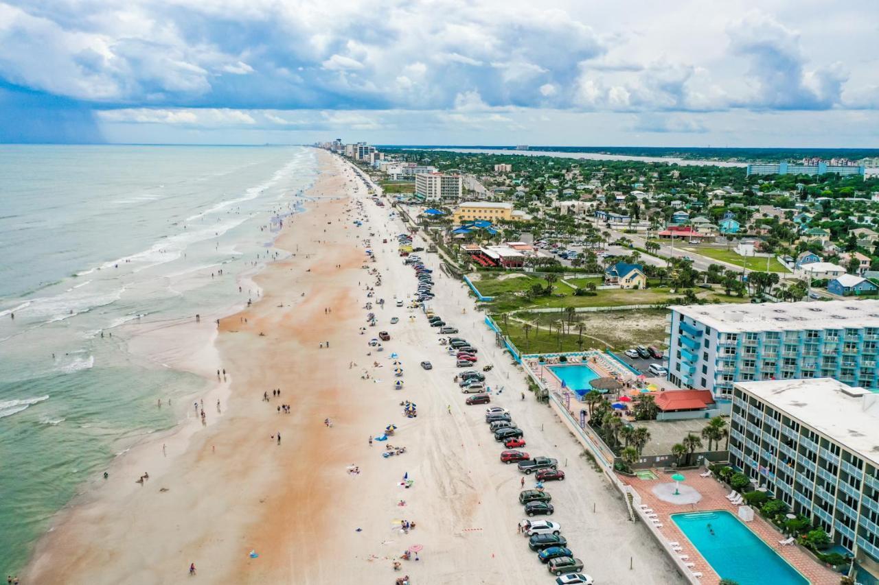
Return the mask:
M638 344L662 346L666 313L665 309L580 313L571 323L563 313L523 313L516 320L507 319L506 324L503 315L492 316L520 351L538 353L577 351L581 347L579 341L584 350L626 350ZM519 319L531 325L527 336L525 323ZM558 321L564 322L561 332ZM582 336L578 333L580 323L584 325Z

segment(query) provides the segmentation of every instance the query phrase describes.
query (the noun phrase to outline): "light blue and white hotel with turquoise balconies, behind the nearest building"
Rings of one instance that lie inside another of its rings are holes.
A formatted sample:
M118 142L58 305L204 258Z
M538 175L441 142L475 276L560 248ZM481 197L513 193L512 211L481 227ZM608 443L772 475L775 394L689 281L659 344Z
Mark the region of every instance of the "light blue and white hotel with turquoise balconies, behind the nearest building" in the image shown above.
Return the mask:
M879 387L879 300L669 307L668 379L729 399L735 382L834 378Z

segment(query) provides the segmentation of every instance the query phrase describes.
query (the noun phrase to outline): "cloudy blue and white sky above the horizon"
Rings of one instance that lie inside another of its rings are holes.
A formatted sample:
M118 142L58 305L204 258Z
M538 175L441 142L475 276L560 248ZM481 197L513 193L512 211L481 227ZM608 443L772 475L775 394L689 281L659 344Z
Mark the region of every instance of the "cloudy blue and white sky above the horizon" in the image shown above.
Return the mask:
M879 147L879 4L0 0L0 142Z

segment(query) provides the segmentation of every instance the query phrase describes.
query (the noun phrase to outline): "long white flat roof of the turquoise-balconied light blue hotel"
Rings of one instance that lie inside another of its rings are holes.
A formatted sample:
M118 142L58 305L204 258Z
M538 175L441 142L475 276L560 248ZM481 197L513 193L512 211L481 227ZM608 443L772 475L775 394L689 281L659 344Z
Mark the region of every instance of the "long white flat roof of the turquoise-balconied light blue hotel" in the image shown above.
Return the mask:
M724 333L879 328L879 300L678 305L669 308Z

